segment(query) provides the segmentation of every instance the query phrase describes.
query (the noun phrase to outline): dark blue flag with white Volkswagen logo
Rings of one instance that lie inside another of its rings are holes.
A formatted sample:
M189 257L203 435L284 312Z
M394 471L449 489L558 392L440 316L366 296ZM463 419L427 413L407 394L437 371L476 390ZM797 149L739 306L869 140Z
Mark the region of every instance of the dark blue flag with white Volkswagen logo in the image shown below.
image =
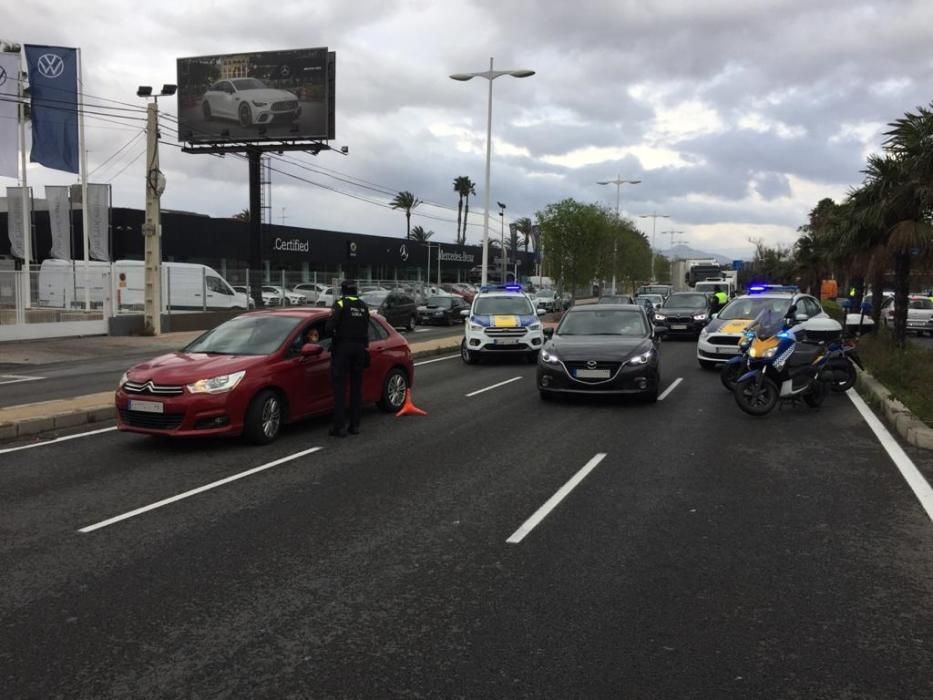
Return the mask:
M26 44L32 98L32 152L29 160L77 173L78 56L76 49Z

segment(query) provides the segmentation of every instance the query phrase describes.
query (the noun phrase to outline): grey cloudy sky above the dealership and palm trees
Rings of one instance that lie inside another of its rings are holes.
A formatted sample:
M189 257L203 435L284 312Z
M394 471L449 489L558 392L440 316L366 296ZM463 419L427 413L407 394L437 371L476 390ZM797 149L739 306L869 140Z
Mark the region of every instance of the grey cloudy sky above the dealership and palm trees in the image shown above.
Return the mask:
M614 207L615 187L596 182L621 174L642 180L622 190L622 209L642 230L650 234L651 220L639 215L671 217L658 220L659 248L671 240L660 232L674 230L683 232L675 240L729 256L748 256L749 238L793 242L820 198L840 198L860 181L885 124L933 99L928 0L80 6L26 0L4 17L0 39L80 47L92 100L136 103L137 85L175 82L180 56L337 52L333 145L350 152L276 162L317 183L273 174L274 221L296 226L403 236L403 214L385 206L390 197L344 181L364 180L431 203L415 210L412 224L453 240L458 175L477 183L470 211L479 224L488 83L448 75L485 70L490 56L496 68L536 71L494 82L491 195L507 204L507 220L566 197ZM176 106L160 105L163 137L174 144ZM87 147L91 180L112 181L115 205L142 208L144 141L135 117L89 116ZM248 205L243 160L166 145L162 169L164 208L227 216ZM30 166L29 181L73 177ZM468 236L477 242L481 227Z

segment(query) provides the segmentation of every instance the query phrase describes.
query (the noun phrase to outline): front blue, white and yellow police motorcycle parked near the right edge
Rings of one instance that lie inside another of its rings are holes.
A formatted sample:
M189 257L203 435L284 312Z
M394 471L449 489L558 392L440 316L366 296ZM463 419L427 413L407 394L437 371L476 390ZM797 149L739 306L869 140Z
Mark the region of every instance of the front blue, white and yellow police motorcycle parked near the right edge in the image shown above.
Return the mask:
M755 337L746 353L746 371L736 380L735 402L753 416L767 415L781 400L802 399L819 408L832 376L826 342L841 337L842 326L828 318L797 316L796 306L783 318L773 316L766 310L753 324Z

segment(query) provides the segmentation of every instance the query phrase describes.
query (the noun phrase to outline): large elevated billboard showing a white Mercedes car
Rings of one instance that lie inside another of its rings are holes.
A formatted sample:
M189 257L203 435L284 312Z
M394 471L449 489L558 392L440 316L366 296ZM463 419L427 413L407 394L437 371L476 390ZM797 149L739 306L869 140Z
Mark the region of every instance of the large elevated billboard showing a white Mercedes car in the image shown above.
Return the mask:
M179 58L178 139L332 139L335 64L326 47Z

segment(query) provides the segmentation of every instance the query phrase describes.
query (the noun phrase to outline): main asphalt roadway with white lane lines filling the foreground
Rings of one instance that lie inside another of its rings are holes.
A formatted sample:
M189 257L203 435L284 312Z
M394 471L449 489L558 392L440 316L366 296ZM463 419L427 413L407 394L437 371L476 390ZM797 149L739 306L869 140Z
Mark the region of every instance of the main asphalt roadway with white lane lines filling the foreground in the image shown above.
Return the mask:
M853 403L748 417L693 348L654 405L449 359L358 437L0 452L0 697L933 696L933 522Z

